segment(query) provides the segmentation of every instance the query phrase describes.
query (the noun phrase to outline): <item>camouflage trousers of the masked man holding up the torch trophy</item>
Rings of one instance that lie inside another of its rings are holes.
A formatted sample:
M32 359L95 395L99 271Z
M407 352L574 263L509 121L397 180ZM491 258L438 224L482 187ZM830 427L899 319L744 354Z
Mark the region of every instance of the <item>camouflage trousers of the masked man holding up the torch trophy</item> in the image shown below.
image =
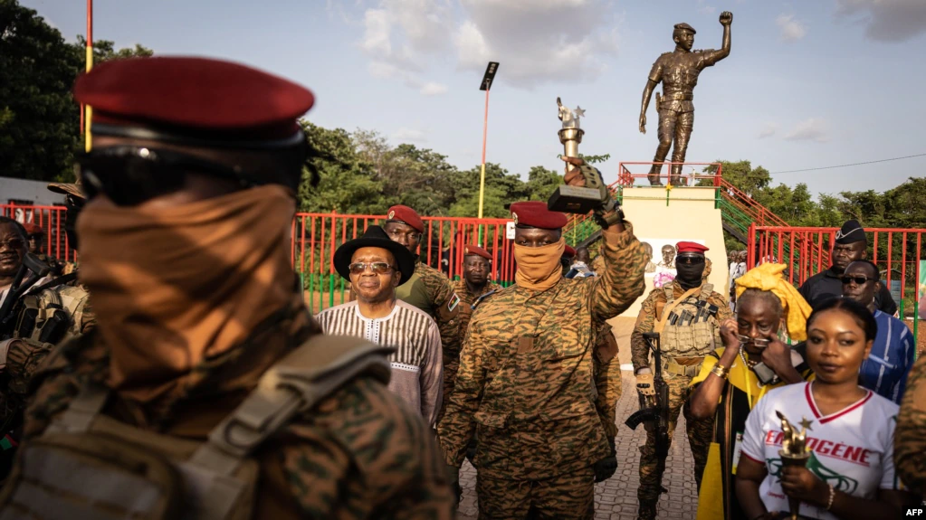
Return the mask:
M594 517L592 466L544 480L476 477L480 520L591 520Z

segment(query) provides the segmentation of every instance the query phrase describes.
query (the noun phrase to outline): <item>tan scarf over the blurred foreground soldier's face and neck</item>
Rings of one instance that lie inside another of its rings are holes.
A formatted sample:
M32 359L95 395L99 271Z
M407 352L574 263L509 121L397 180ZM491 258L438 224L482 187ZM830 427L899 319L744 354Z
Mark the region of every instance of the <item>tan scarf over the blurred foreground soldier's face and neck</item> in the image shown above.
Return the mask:
M294 211L275 185L166 210L87 205L80 279L111 351L109 385L155 399L290 303Z

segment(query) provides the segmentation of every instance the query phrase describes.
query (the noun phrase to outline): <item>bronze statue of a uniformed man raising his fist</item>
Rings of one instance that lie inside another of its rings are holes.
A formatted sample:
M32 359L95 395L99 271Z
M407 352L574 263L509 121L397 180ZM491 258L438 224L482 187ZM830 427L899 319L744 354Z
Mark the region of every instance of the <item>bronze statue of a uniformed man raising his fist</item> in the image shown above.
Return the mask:
M662 162L669 154L672 140L675 148L672 150L672 162L682 163L685 152L688 150L688 141L692 136L694 127L694 85L697 84L698 74L706 67L711 67L721 59L730 56L730 24L733 14L730 11L720 13L720 25L723 26L723 47L720 50L708 49L692 51L694 44L694 28L687 23L675 25L672 39L675 41L675 50L659 56L646 80L643 91L643 104L640 107L640 131L646 133L646 108L649 98L653 94L659 81L662 81L662 96L656 93L656 110L659 114L659 146L653 162L657 163L649 170L646 176L653 186L661 186L659 171ZM682 183L682 165L672 165L669 182L678 186Z

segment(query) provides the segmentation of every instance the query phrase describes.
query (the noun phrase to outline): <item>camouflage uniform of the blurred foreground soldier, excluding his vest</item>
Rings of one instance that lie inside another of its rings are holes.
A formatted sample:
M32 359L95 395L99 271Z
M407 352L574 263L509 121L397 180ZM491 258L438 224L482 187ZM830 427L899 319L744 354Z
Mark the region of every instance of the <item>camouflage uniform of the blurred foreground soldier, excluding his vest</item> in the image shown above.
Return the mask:
M146 430L205 440L270 365L320 332L297 300L277 326L194 366L165 395L143 403L116 393L104 413ZM106 384L108 375L108 351L95 333L56 349L35 374L26 442L42 434L81 386ZM355 378L298 415L256 456L254 518L453 517L456 504L431 433L369 377Z

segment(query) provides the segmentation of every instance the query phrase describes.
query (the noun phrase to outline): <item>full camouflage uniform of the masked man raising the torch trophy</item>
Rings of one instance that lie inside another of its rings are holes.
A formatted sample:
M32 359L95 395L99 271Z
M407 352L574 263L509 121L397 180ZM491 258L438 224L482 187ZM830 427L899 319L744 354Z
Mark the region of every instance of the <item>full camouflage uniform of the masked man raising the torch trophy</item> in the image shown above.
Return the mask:
M624 225L605 232L598 277L546 291L515 285L473 313L438 431L457 467L479 437L481 518L524 518L531 506L544 518L592 515L592 464L610 455L595 409L594 342L644 291L643 249Z

